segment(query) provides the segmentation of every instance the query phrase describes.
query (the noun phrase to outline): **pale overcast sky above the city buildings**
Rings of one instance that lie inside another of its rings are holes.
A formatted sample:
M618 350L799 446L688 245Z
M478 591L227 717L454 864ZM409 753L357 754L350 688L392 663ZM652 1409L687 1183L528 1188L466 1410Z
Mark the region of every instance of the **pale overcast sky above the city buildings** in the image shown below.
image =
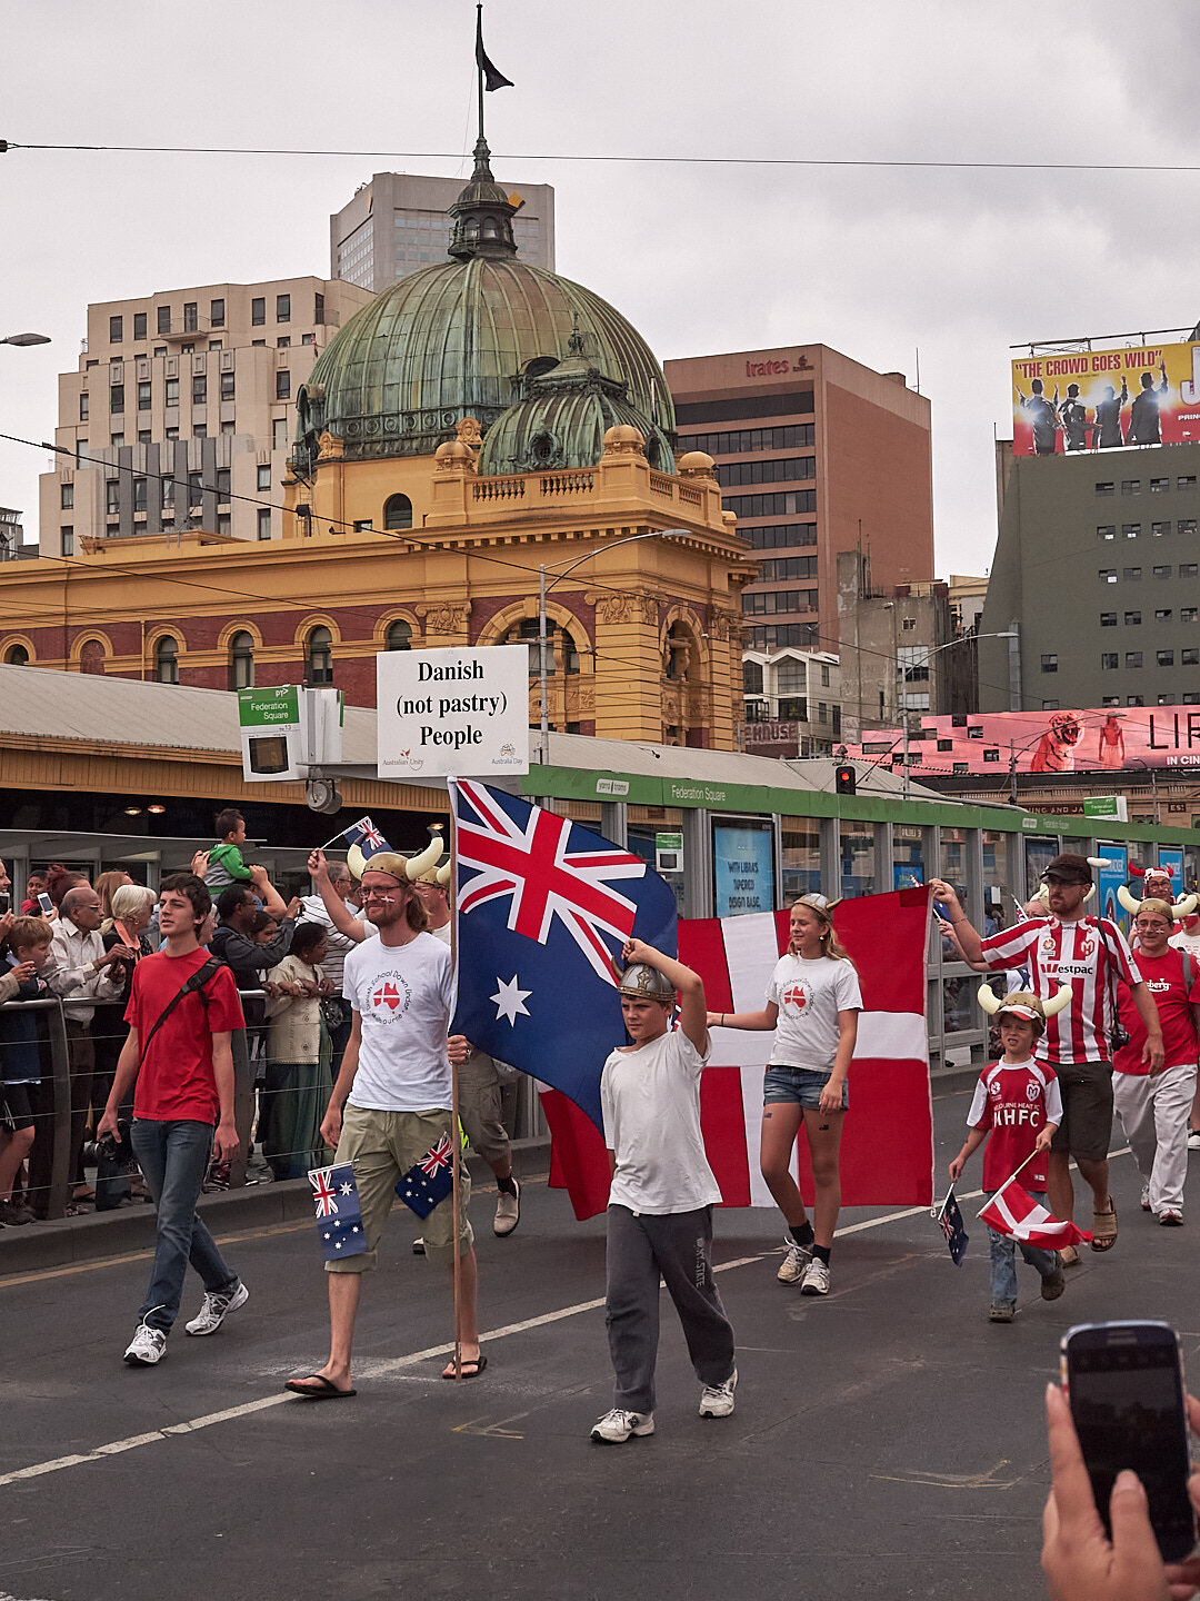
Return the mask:
M328 274L373 171L469 150L470 0L6 6L0 138L352 155L0 155L0 432L50 439L88 301ZM982 572L1008 346L1200 320L1200 171L771 167L752 158L1200 162L1194 0L488 0L504 183L557 189L558 271L659 357L824 343L933 402L939 575ZM550 160L744 157L746 165ZM0 440L37 530L45 451Z

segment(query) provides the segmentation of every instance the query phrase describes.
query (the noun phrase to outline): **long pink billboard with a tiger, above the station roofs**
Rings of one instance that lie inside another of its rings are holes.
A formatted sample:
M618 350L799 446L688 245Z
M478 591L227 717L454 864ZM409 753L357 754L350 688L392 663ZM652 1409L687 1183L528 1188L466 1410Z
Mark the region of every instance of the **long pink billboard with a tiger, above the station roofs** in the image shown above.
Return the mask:
M904 735L882 728L846 746L848 757L904 765ZM1200 706L1088 711L998 711L922 717L909 733L909 770L955 773L1104 773L1147 767L1200 768Z

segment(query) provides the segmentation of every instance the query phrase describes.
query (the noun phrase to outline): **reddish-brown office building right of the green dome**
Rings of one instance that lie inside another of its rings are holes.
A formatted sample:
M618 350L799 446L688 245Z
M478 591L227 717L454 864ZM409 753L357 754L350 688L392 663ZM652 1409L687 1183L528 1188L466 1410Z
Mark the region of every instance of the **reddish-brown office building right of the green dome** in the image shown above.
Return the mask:
M838 648L837 557L874 583L933 578L930 402L822 344L664 362L678 455L717 461L726 511L762 554L746 644Z

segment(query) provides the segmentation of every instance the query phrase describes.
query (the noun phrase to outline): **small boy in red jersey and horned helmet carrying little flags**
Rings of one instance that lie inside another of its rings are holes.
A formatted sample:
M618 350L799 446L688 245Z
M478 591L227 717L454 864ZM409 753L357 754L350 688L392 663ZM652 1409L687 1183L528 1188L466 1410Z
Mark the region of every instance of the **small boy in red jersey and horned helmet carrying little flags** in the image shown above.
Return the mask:
M950 1162L950 1178L955 1183L962 1178L968 1158L987 1140L984 1190L998 1190L1032 1156L1021 1174L1021 1186L1046 1206L1046 1151L1062 1121L1062 1097L1054 1069L1034 1061L1034 1042L1046 1026L1045 1012L1037 996L1018 993L1005 1001L995 1021L1005 1053L979 1074L966 1114L971 1132ZM1042 1274L1042 1300L1058 1300L1066 1278L1056 1250L1038 1250L994 1228L987 1230L987 1238L992 1247L992 1310L987 1316L992 1322L1016 1318L1018 1244L1026 1262Z

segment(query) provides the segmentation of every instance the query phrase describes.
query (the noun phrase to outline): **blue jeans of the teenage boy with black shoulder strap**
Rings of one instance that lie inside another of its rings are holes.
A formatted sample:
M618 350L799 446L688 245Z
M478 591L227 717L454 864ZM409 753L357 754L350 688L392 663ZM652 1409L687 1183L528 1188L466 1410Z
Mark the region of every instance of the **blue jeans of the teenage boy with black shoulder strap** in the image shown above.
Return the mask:
M213 1294L237 1284L237 1273L226 1265L195 1210L213 1150L213 1126L134 1117L130 1140L158 1212L150 1287L138 1318L170 1334L189 1262Z

